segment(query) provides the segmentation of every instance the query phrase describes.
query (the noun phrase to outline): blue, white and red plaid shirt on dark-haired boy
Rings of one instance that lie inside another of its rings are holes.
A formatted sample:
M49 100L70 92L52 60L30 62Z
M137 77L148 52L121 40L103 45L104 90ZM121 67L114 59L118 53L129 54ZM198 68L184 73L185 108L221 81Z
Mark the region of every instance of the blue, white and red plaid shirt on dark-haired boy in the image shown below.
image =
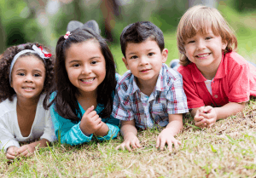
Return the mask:
M168 114L185 112L189 111L182 76L166 64L162 65L149 97L140 91L131 71L119 78L113 99L114 118L125 121L135 119L137 127L147 129L166 126L169 123Z

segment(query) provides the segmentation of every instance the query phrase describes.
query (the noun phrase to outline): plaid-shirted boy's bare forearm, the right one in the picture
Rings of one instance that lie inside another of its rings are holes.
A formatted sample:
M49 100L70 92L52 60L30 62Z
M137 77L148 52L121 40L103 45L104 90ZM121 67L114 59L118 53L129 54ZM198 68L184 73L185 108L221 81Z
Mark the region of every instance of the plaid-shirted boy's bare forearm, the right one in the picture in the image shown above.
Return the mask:
M183 114L169 114L169 123L166 129L170 130L170 134L177 135L183 129Z

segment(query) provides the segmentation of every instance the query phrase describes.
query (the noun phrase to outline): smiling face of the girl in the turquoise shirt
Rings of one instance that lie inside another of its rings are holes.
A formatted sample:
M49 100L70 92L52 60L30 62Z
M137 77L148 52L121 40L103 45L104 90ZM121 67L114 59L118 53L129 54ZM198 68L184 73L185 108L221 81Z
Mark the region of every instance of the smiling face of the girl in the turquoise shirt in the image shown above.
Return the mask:
M82 95L96 92L106 76L106 62L100 44L93 40L73 43L67 49L65 66L70 82Z

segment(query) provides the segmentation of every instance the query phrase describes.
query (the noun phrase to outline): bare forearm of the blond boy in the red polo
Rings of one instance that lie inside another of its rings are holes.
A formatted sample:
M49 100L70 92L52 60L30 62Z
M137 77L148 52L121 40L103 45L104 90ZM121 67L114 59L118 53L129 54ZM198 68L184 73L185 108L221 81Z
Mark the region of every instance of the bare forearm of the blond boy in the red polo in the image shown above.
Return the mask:
M214 110L217 113L217 120L221 118L227 118L231 115L235 115L238 112L241 112L245 107L245 102L236 103L236 102L229 102L228 104L221 106L221 107L214 107Z

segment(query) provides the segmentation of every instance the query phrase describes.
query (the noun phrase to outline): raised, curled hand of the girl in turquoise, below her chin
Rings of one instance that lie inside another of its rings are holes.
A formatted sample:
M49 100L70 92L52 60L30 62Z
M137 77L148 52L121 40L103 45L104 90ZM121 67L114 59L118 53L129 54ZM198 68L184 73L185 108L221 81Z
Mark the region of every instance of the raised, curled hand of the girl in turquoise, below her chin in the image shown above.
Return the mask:
M91 135L96 132L97 129L100 129L103 125L102 118L93 111L94 106L90 106L80 123L80 128L83 131L84 135Z

